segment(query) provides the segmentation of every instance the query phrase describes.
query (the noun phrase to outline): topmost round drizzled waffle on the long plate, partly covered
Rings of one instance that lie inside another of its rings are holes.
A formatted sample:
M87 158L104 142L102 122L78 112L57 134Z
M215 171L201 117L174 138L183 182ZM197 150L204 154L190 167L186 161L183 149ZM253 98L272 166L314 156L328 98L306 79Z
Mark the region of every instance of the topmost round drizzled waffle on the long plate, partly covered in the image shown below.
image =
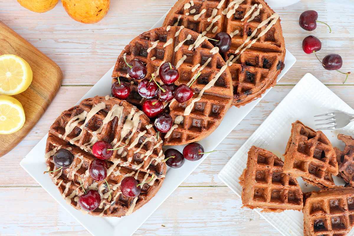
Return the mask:
M229 66L233 105L240 107L274 86L284 67L285 43L278 18L263 0L178 0L163 25L183 25L209 38L219 32L230 34L232 46L223 57L233 63Z

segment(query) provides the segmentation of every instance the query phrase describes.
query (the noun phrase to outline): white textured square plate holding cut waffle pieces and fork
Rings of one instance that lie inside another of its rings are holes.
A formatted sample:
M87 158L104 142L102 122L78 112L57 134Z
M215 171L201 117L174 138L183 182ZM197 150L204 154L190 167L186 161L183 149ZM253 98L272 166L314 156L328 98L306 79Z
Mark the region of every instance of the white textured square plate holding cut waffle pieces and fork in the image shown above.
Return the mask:
M337 97L312 74L307 73L222 168L218 174L219 179L241 197L242 188L239 184L239 177L246 167L247 152L252 145L269 150L284 161L282 154L285 153L287 140L290 137L291 123L299 120L306 126L314 128L314 115L333 111L354 114L354 110L343 100ZM343 129L336 131L324 130L323 132L333 146L343 150L344 144L337 139L337 134L343 133L353 136L354 123ZM339 177L333 176L333 179L337 185L344 184L344 181ZM297 180L303 192L318 189L306 184L300 177ZM275 229L279 230L282 235L303 235L302 212L287 210L281 213L263 213L260 212L260 209L255 209L255 211L273 225ZM348 235L353 236L354 231L352 230Z

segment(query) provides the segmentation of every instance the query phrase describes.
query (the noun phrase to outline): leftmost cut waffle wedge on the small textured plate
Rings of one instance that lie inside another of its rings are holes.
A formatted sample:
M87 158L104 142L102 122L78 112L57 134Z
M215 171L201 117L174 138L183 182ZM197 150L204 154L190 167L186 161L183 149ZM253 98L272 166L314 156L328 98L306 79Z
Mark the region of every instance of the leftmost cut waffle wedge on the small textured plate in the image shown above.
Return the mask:
M251 147L247 167L240 177L244 207L263 208L266 212L302 209L300 186L290 174L283 173L283 165L272 152Z

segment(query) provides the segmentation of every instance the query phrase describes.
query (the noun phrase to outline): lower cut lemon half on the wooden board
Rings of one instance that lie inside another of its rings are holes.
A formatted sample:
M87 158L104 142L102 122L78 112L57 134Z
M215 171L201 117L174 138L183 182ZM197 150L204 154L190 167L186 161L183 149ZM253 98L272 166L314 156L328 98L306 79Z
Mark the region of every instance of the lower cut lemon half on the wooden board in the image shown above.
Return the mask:
M0 134L15 133L25 121L21 103L13 97L0 95Z

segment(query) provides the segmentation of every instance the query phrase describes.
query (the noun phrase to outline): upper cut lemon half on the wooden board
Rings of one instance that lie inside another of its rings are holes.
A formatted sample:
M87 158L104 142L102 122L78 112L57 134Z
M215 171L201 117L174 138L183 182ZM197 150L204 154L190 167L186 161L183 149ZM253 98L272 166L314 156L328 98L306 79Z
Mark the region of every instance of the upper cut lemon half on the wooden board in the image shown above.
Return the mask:
M0 56L0 93L15 95L25 91L32 82L32 69L16 55Z

